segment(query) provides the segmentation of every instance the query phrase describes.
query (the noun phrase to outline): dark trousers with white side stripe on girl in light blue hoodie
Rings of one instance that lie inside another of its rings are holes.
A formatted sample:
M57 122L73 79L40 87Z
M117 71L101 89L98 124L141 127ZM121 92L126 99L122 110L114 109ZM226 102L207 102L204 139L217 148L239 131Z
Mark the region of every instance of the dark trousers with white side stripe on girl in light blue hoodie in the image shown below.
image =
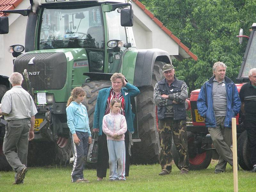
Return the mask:
M71 142L72 142L72 149L73 154L75 156L73 169L71 172L71 181L75 182L78 179L84 179L84 162L87 155L87 148L88 148L88 132L81 132L76 131L76 135L80 140L79 145L73 142L73 135L69 132Z

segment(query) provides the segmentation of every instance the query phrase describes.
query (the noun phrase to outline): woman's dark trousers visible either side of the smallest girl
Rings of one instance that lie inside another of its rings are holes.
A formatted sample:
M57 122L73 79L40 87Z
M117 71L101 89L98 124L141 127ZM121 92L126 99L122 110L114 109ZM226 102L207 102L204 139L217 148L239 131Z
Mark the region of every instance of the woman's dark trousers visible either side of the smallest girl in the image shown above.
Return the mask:
M130 169L130 155L128 151L129 147L129 132L127 131L124 137L125 144L125 177L129 176ZM103 178L107 175L108 168L108 144L107 136L102 132L102 135L98 136L98 162L97 162L97 177Z

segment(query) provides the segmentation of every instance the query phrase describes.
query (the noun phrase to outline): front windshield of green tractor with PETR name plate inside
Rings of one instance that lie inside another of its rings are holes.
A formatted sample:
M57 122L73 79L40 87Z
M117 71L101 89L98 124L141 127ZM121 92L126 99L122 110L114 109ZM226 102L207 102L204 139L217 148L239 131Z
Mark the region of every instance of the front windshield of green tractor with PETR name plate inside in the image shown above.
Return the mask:
M101 7L81 9L44 8L39 49L104 49Z

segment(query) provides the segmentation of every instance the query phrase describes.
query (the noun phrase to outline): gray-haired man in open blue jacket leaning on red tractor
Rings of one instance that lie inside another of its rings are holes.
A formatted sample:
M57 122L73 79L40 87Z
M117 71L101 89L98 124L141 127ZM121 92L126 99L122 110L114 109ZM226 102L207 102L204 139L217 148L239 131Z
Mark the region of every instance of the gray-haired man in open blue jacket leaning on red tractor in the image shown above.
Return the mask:
M225 172L227 162L233 166L232 118L239 113L241 100L234 82L226 75L227 66L218 61L213 65L213 76L201 87L197 109L205 119L213 145L220 155L215 173Z

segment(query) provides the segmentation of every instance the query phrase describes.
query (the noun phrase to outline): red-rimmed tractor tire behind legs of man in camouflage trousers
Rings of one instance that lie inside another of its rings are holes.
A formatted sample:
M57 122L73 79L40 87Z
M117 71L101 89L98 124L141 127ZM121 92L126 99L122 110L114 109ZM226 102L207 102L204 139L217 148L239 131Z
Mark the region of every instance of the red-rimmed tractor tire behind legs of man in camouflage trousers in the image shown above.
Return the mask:
M190 170L206 169L212 161L212 150L206 150L204 153L196 154L195 149L193 147L194 133L187 132L187 138L188 138L189 169ZM176 150L176 147L173 141L172 141L172 157L175 165L180 169L179 154Z

